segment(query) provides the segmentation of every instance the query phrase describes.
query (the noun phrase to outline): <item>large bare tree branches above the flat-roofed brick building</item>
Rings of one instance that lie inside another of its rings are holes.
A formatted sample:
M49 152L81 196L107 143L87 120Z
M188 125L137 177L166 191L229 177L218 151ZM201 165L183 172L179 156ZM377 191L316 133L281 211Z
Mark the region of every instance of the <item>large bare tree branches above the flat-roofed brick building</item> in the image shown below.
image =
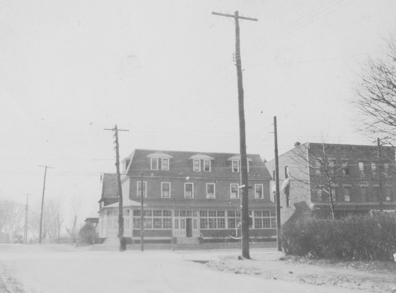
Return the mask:
M396 135L396 33L386 42L386 54L370 58L355 87L352 104L359 113L361 131L373 141L377 137L393 144Z

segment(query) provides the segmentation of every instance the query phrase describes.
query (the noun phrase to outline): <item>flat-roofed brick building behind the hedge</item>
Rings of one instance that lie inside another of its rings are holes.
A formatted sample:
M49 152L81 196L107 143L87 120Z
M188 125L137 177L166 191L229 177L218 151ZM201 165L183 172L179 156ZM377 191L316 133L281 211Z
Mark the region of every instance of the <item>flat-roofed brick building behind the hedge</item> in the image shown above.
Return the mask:
M393 147L382 146L378 159L377 146L296 144L279 156L281 222L330 216L330 194L335 216L378 210L381 198L384 210L396 209L394 164ZM265 165L275 178L275 160Z

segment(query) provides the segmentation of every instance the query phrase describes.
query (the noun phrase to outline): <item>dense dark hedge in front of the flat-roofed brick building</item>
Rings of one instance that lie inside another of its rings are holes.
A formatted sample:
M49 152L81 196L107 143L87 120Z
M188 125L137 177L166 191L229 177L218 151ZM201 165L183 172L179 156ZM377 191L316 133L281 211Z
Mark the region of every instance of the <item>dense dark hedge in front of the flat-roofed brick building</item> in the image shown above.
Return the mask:
M339 220L304 218L285 223L282 245L289 255L326 259L393 260L396 218L350 216Z

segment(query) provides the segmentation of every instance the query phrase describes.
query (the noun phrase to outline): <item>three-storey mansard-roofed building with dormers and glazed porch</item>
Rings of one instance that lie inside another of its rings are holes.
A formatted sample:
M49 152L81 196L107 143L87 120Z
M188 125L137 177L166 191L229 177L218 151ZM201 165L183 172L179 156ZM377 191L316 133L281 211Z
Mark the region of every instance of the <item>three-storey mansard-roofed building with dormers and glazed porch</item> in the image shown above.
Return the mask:
M265 239L276 235L275 205L270 201L272 178L259 155L248 154L247 160L250 236ZM240 237L238 154L135 149L122 164L125 237L140 240L142 189L145 239L173 236L225 241ZM114 196L116 180L105 175L103 190L112 190ZM101 202L108 203L105 191ZM118 203L101 205L99 237L117 234Z

